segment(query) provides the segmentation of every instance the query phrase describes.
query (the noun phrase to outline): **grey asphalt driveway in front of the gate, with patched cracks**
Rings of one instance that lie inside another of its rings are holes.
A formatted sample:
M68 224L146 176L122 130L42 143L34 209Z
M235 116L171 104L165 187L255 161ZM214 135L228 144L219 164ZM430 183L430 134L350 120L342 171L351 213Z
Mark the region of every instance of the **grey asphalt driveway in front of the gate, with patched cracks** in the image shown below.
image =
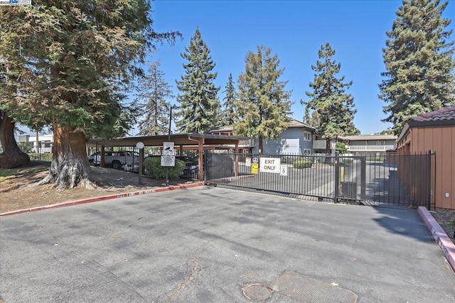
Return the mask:
M416 211L201 187L2 217L0 233L7 303L250 302L244 285L285 271L358 302L455 302Z

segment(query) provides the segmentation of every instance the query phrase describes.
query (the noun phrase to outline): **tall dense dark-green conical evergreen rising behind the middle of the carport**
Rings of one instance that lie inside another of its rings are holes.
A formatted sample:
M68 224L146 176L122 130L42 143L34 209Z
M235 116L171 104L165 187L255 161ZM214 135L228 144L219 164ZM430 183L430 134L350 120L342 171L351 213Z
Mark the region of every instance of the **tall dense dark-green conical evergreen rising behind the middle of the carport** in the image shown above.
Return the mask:
M181 95L177 96L180 103L176 112L176 127L180 132L207 132L218 124L217 115L220 110L218 90L214 84L218 73L213 72L215 63L210 56L210 50L200 36L199 28L190 40L190 45L182 53L185 75L176 81Z

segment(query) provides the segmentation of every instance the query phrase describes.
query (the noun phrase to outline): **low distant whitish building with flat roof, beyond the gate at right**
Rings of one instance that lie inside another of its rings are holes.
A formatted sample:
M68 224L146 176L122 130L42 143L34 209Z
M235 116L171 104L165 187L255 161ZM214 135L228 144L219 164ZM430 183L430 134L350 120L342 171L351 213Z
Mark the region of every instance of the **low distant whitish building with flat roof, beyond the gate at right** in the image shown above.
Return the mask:
M385 151L395 149L397 137L392 134L360 134L338 137L338 141L344 142L348 154L353 156L385 156Z

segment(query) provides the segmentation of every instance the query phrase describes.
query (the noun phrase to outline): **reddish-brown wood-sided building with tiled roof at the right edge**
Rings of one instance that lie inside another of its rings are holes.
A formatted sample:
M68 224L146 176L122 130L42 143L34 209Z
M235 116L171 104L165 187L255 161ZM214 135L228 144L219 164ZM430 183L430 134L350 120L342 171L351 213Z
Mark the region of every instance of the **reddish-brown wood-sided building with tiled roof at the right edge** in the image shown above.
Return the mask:
M429 151L436 157L429 173L434 174L429 194L434 195L436 208L455 209L455 105L418 115L405 124L397 139L397 154Z

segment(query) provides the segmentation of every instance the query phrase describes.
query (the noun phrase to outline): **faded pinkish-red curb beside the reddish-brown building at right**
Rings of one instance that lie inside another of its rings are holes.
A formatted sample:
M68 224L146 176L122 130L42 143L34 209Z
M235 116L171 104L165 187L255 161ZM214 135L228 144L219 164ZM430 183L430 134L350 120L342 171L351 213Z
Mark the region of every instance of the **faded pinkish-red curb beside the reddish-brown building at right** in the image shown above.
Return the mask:
M419 206L418 209L419 215L424 220L424 223L427 225L432 237L436 241L437 245L441 249L442 255L446 257L447 262L449 262L452 270L455 272L455 245L450 240L446 232L441 228L441 225L434 220L432 214L424 206Z

